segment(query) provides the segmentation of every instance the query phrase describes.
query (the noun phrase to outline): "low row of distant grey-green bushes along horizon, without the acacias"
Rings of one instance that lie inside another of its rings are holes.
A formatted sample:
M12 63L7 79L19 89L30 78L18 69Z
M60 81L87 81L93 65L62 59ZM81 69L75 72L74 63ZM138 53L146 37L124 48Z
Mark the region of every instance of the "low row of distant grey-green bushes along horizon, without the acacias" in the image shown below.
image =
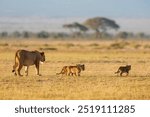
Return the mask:
M0 38L95 38L95 39L113 39L113 38L122 38L122 39L130 39L130 38L150 38L150 35L147 35L143 32L139 33L132 33L132 32L118 32L116 34L110 33L101 33L101 37L95 37L93 33L81 33L81 32L73 32L73 33L65 33L65 32L47 32L47 31L40 31L40 32L29 32L29 31L15 31L9 33L7 31L0 32Z

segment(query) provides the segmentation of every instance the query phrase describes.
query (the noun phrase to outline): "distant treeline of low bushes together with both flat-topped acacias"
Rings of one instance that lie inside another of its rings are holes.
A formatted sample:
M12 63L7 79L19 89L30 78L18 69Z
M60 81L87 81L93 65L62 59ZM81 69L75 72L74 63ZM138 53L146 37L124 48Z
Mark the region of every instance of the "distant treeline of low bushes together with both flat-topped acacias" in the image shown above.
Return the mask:
M120 26L111 19L104 18L104 17L94 17L87 19L82 24L78 22L73 22L70 24L64 24L62 26L66 30L70 30L70 33L65 32L47 32L41 31L37 33L29 32L29 31L15 31L12 33L8 33L7 31L0 32L1 38L95 38L95 39L102 39L102 38L122 38L122 39L129 39L129 38L150 38L150 35L145 34L144 32L133 33L127 31L117 31L115 33L110 33L110 30L119 30Z

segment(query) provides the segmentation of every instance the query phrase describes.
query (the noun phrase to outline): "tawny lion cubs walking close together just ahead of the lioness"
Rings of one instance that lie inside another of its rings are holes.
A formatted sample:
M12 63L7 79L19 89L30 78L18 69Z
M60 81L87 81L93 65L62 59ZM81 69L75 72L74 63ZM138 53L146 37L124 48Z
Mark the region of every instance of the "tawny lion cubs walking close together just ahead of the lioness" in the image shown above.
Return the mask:
M81 71L85 70L85 65L77 64L76 66L64 66L61 70L60 73L56 73L57 75L59 74L65 74L67 76L70 75L75 75L75 76L80 76Z

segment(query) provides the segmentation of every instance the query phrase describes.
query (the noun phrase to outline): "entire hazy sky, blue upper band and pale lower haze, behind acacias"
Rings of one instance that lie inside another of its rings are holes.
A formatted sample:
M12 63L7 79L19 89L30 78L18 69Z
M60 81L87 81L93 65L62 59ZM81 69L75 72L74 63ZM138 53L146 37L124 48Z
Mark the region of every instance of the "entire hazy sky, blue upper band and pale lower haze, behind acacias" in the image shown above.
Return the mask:
M96 16L114 19L120 30L150 34L150 0L0 0L0 31L59 31Z

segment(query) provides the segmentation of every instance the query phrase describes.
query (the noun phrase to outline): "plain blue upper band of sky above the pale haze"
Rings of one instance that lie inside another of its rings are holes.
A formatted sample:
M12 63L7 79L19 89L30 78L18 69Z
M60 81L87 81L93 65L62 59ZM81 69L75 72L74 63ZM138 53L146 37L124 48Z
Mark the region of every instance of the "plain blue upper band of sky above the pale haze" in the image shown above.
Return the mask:
M150 18L150 0L0 0L2 16Z

